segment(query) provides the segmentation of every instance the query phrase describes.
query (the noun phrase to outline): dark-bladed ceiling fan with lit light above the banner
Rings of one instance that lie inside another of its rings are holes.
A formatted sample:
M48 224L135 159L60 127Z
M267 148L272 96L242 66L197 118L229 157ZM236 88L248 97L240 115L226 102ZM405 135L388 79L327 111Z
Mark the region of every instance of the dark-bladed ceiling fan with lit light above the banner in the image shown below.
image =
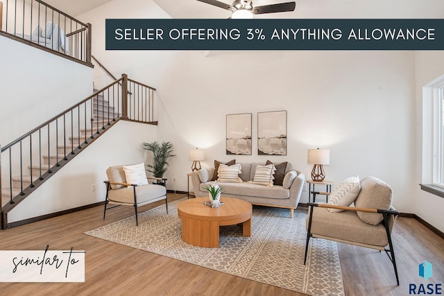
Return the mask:
M253 6L252 1L247 0L234 0L234 2L229 5L221 1L216 0L197 0L203 3L210 4L212 6L217 6L232 12L232 19L236 18L253 18L253 15L263 15L264 13L274 13L274 12L286 12L293 11L296 7L296 2L285 2L277 4L269 4L264 6Z

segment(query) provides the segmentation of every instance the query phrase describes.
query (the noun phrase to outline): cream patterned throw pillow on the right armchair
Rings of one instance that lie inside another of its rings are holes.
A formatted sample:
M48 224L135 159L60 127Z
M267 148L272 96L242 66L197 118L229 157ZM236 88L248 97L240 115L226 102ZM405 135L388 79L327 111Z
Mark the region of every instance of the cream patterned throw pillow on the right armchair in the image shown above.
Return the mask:
M332 193L328 197L327 204L348 207L356 200L360 190L361 184L359 184L359 177L348 177L333 189ZM343 211L343 209L330 208L328 210L332 213L339 213Z

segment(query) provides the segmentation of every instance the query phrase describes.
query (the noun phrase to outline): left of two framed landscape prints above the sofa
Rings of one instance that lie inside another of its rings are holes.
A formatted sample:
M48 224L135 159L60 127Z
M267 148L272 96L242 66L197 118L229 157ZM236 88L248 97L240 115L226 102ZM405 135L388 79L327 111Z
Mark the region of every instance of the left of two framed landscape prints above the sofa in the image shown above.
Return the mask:
M227 155L251 155L251 113L227 115Z

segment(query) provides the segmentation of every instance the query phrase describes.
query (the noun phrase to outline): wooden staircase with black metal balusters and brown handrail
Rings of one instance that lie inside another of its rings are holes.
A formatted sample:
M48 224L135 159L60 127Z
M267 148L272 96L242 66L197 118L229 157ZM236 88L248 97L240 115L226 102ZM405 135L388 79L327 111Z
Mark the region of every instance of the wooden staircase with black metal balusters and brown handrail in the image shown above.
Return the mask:
M129 83L147 88L150 96L129 94ZM9 211L119 120L157 125L152 116L143 116L153 113L154 91L123 74L108 87L94 89L92 96L1 147L1 228L8 227ZM23 150L29 150L28 154Z

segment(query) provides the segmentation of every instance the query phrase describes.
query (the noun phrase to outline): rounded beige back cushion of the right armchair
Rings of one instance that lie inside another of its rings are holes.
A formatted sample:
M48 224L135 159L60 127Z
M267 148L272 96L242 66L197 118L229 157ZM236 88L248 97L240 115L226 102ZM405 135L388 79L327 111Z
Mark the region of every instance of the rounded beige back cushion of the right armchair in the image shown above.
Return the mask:
M355 200L356 207L372 209L390 209L392 202L390 186L377 177L366 177L361 180L361 191ZM377 225L384 219L382 214L358 211L357 215L365 223Z

